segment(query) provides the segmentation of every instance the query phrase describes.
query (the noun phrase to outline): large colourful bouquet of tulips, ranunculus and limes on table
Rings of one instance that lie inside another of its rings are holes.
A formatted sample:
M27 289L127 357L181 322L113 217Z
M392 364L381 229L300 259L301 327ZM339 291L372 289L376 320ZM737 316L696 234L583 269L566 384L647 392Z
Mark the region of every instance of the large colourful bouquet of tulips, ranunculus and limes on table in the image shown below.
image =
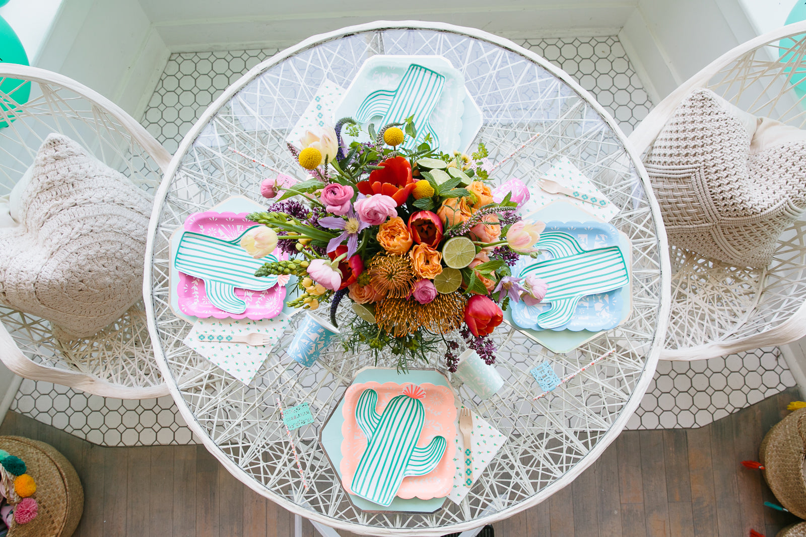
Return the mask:
M403 127L403 129L401 129ZM416 138L412 122L368 126L369 142L343 143L342 130L361 135L351 118L289 144L310 172L297 181L264 180L261 193L276 201L252 213L253 228L241 246L260 258L279 244L287 261L265 263L256 275L297 275L299 293L289 306L316 310L330 303L330 320L347 296L356 318L345 349L390 349L405 369L445 345L447 367L456 367L455 334L488 364L489 336L513 300L537 304L546 293L539 279L514 278L521 255L535 256L545 227L522 221L517 209L529 198L519 180L490 188L491 164L483 144L471 156L430 147L402 147ZM405 130L405 132L404 132Z

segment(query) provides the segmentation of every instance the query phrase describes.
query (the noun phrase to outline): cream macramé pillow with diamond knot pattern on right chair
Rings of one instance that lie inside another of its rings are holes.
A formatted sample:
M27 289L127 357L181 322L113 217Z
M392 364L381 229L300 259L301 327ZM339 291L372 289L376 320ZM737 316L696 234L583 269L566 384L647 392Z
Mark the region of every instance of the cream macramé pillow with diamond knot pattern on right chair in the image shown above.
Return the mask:
M655 140L646 171L670 244L767 266L780 234L806 209L806 141L790 133L769 147L767 130L750 151L753 133L724 102L694 90Z

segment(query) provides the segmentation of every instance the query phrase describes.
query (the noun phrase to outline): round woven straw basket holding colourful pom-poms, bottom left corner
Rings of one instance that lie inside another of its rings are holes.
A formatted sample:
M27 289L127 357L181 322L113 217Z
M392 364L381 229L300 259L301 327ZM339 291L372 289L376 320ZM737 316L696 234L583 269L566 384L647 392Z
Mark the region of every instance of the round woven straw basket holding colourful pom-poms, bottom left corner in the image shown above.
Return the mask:
M30 523L13 524L8 537L69 537L84 511L84 489L73 465L53 446L21 436L0 436L0 449L19 456L36 481L39 514Z

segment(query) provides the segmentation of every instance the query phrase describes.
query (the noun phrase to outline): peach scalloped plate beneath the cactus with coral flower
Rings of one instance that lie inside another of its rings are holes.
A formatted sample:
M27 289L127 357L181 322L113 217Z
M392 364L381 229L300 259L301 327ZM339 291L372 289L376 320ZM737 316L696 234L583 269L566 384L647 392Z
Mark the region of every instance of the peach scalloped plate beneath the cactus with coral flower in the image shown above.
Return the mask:
M358 398L367 388L372 388L378 392L378 412L383 412L390 400L396 395L403 393L405 386L411 382L397 384L397 382L361 382L353 384L347 388L344 394L344 405L342 415L342 485L347 493L352 494L350 484L355 475L355 469L367 449L367 437L355 421L355 405ZM430 500L431 498L444 498L450 494L453 488L454 473L456 466L454 457L455 437L456 437L456 407L454 395L447 386L435 386L430 382L420 384L426 390L426 397L422 399L422 405L426 410L426 421L420 433L418 447L423 448L434 438L434 436L444 436L447 440L447 448L442 459L433 472L419 477L405 477L400 489L397 489L399 498L420 498Z

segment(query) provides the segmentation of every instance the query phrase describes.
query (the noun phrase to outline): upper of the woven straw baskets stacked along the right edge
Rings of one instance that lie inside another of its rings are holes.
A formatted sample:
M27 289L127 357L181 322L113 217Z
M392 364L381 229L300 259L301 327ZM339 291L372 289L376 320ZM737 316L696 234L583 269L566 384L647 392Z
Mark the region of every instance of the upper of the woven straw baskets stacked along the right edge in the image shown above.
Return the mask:
M767 485L781 505L800 518L806 518L806 408L787 415L770 429L758 448L758 460ZM787 534L788 535L788 534ZM800 535L800 534L792 534Z

